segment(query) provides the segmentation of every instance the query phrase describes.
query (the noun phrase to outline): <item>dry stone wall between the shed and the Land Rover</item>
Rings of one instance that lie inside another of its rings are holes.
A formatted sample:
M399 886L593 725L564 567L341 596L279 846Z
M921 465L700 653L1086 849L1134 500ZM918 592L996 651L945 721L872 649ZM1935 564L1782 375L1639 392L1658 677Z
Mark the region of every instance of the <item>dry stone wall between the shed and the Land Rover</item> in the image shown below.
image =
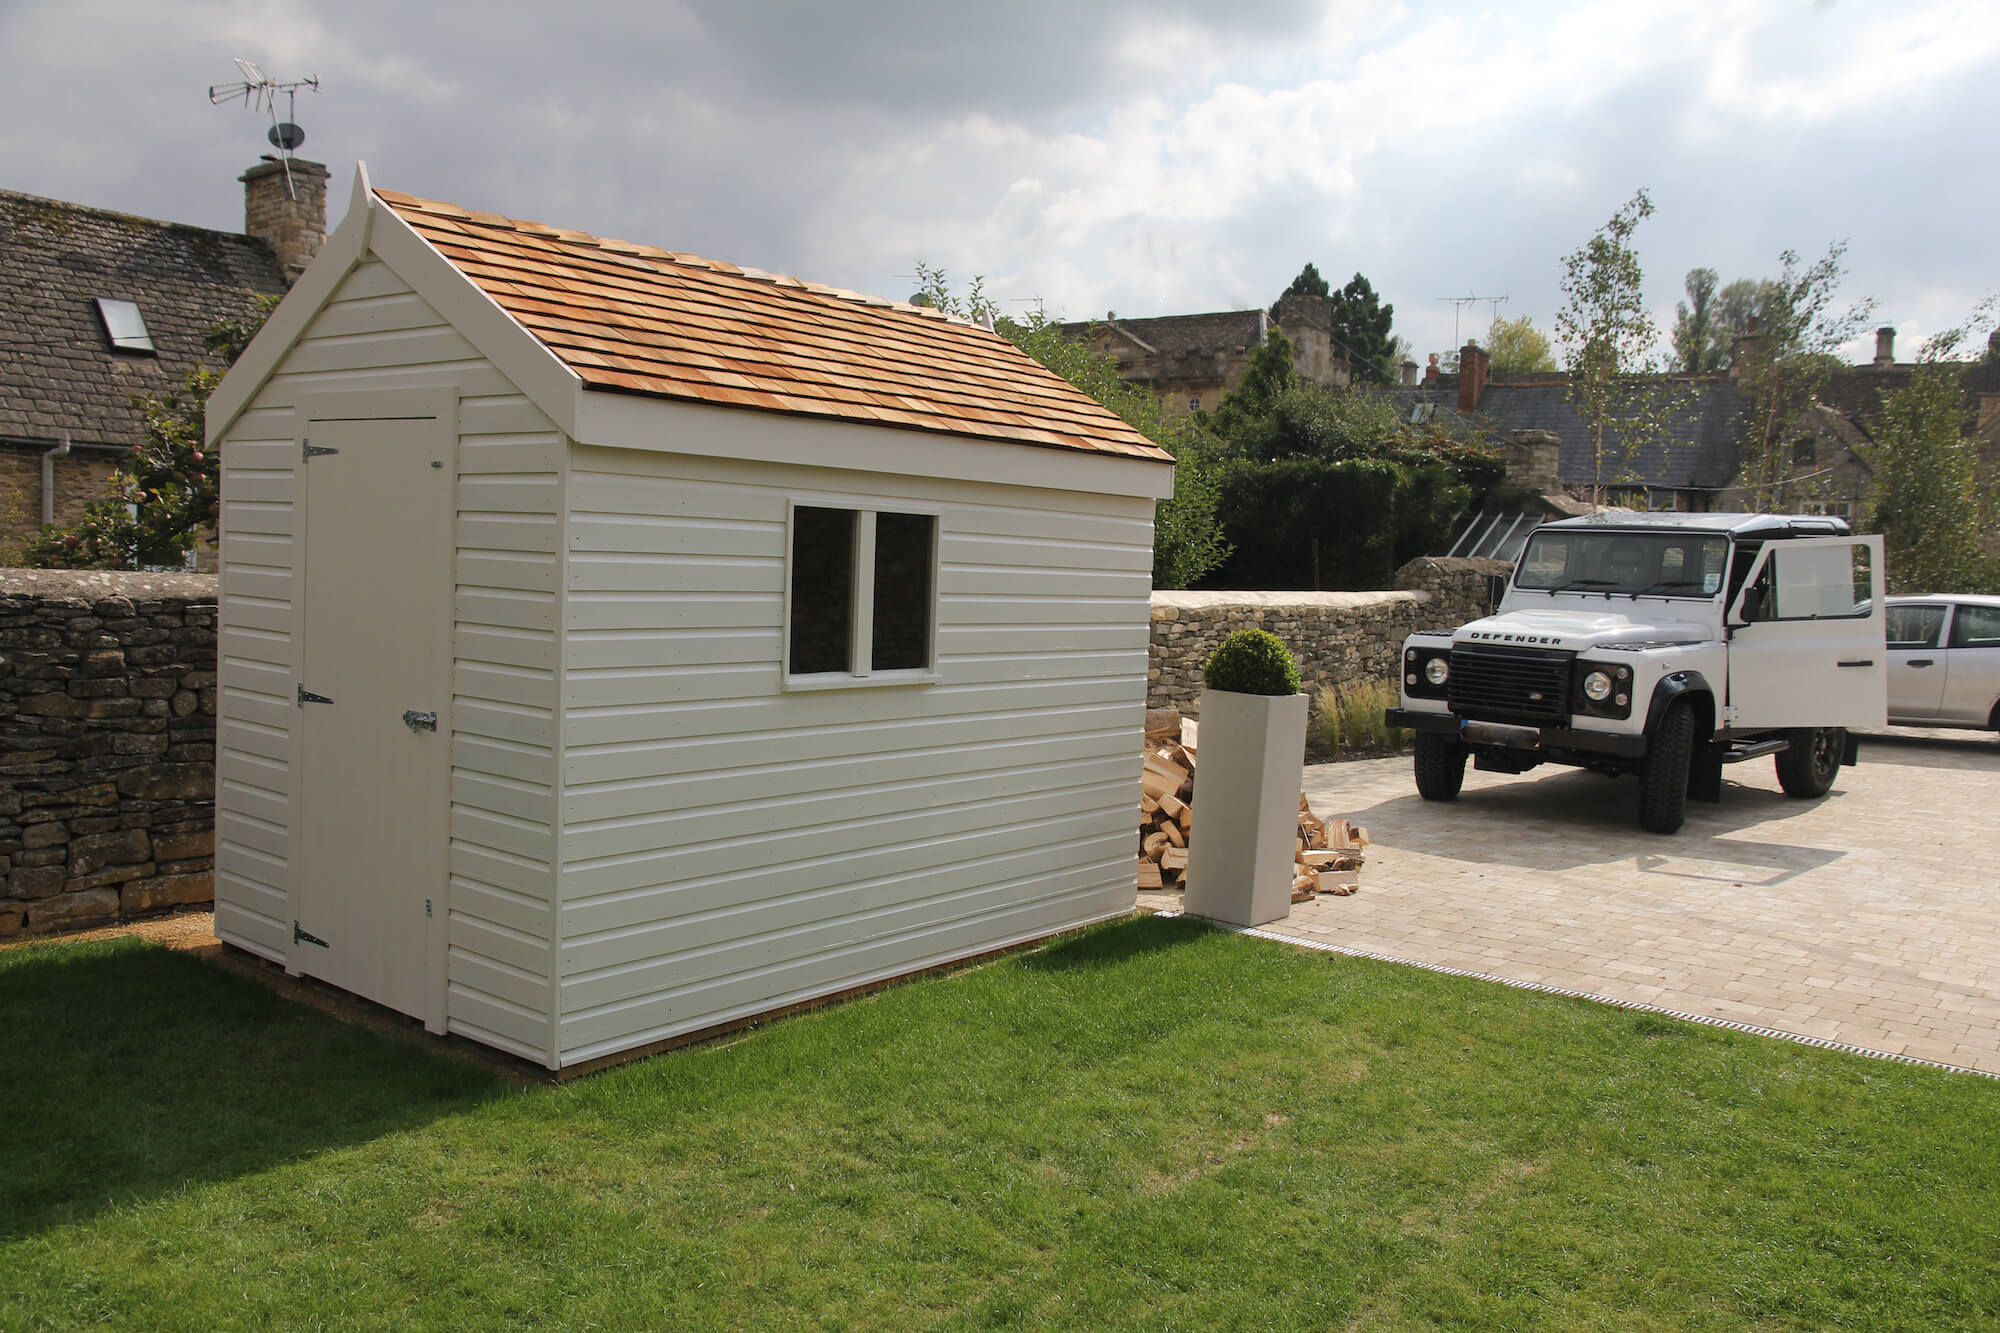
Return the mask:
M1308 693L1322 685L1394 681L1406 634L1486 614L1502 560L1424 556L1388 592L1154 592L1146 707L1196 715L1202 662L1226 634L1270 630L1298 656Z

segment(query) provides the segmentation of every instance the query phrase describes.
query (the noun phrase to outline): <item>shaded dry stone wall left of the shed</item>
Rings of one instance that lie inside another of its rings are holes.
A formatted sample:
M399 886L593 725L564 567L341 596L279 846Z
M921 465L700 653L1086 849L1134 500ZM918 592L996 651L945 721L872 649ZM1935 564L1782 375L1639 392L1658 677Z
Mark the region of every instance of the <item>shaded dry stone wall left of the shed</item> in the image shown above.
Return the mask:
M0 937L214 897L216 578L0 570Z

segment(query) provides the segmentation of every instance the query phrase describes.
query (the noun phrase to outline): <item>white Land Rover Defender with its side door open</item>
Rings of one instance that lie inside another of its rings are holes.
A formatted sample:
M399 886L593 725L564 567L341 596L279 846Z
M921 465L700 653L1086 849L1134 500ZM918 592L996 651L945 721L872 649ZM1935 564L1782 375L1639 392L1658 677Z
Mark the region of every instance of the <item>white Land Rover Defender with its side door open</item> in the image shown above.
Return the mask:
M1416 789L1452 801L1466 759L1636 773L1638 823L1674 833L1722 765L1776 755L1792 797L1888 719L1882 538L1840 518L1592 514L1534 530L1500 608L1410 634L1402 707Z

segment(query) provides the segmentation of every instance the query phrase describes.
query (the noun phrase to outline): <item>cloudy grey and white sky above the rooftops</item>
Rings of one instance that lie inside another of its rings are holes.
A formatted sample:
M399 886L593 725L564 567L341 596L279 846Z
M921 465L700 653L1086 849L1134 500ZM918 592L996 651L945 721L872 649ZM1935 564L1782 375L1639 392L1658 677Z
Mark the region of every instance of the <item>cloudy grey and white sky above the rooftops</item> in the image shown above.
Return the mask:
M1418 352L1550 326L1646 186L1648 300L1848 242L1916 340L2000 288L1992 0L0 0L0 188L236 230L264 122L516 218L1066 318L1364 272Z

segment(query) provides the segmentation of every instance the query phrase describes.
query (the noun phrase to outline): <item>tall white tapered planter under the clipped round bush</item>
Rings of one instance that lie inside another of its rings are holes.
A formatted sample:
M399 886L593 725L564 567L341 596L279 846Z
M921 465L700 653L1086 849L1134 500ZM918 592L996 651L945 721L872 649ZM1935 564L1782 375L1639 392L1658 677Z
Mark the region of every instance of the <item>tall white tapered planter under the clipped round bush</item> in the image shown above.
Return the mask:
M1186 909L1254 927L1292 915L1306 697L1202 691Z

